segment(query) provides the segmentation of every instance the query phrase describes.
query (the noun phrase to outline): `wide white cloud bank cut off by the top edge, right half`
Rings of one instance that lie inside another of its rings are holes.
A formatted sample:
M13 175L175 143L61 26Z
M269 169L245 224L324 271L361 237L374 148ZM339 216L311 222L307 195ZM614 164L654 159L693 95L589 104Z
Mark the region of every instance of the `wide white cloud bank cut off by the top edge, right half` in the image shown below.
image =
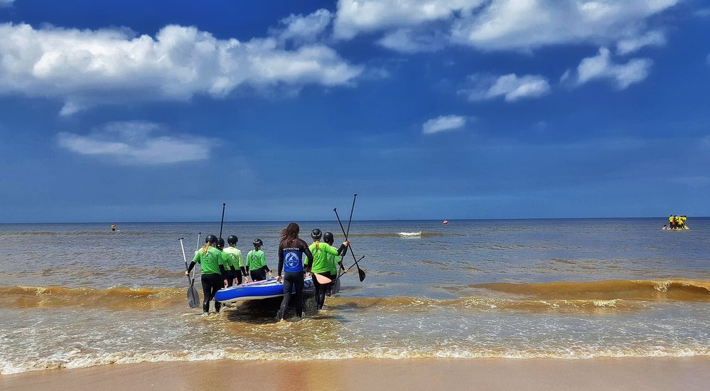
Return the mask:
M409 28L409 36L428 36L443 29L447 43L483 50L530 50L567 43L606 45L642 35L646 18L678 1L340 0L334 34L344 39L372 32L401 36L396 31Z

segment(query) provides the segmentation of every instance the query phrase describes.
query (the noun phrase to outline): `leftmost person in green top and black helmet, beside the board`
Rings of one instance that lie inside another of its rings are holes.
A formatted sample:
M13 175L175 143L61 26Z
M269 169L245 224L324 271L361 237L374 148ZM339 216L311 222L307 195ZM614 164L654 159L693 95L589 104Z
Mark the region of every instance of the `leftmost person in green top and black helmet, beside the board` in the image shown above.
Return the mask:
M224 258L222 252L217 250L217 237L215 235L207 235L205 237L205 247L202 247L195 254L193 262L185 275L189 276L195 264L200 264L202 267L202 312L208 314L210 312L210 301L215 298L215 293L222 287L227 286L227 271L225 270ZM222 304L215 301L215 311L219 312Z

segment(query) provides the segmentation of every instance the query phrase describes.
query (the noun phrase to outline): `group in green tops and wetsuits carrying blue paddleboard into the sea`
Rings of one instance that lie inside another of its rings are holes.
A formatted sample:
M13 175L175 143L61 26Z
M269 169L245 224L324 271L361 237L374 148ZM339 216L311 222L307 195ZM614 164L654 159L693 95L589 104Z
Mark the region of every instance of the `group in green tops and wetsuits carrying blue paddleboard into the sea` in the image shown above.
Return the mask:
M280 321L286 315L289 302L294 299L296 316L303 317L303 282L306 273L311 273L313 286L316 287L318 309L323 308L326 295L337 281L338 267L347 272L343 267L342 257L348 251L350 242L343 242L337 249L333 247L333 233L321 232L318 228L311 231L313 244L308 245L298 237L301 228L296 223L290 223L281 230L279 240L279 268L277 282L284 283L284 299L281 301L276 318ZM323 240L321 242L321 240ZM193 261L185 271L189 275L195 264L202 267L203 313L210 310L210 301L214 299L218 290L252 281L260 281L272 277L273 273L267 266L266 255L262 251L264 242L254 239L254 250L249 251L246 261L242 259L242 252L237 249L238 238L236 235L227 237L227 245L221 237L208 235L205 237L205 246L195 252ZM320 277L320 280L318 279ZM293 296L293 297L292 297ZM222 305L215 301L215 311L219 312Z

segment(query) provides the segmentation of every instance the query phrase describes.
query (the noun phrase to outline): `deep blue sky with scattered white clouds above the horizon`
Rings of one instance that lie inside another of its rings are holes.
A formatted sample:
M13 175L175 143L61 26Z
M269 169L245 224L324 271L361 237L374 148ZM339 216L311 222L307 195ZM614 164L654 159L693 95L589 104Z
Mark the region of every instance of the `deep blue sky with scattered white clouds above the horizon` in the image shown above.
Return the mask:
M710 215L699 0L0 0L0 223Z

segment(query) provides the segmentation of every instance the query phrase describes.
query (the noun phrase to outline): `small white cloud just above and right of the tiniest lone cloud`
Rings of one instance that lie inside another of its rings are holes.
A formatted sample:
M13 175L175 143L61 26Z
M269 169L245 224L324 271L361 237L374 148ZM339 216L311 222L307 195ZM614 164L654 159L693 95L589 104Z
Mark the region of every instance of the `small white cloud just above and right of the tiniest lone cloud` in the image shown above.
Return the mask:
M541 75L521 77L517 77L515 73L500 77L471 75L470 80L475 87L459 90L458 93L471 101L505 97L507 102L515 102L522 98L542 97L550 92L549 82Z

